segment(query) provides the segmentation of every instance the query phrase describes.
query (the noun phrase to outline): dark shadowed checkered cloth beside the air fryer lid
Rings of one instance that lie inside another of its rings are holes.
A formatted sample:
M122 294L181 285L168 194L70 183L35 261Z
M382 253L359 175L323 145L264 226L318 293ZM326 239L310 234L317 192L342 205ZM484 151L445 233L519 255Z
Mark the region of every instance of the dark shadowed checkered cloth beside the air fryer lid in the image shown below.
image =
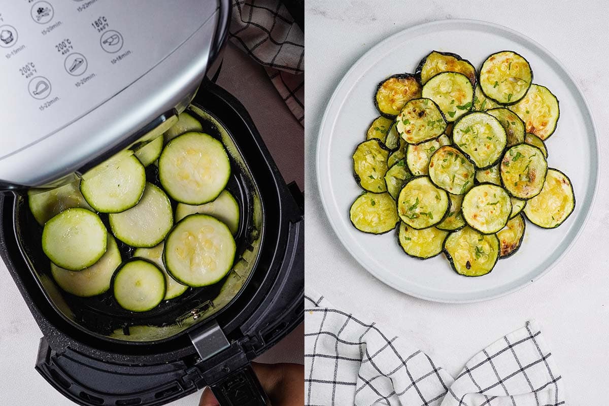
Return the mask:
M233 0L231 41L263 65L301 125L305 123L305 34L280 0Z

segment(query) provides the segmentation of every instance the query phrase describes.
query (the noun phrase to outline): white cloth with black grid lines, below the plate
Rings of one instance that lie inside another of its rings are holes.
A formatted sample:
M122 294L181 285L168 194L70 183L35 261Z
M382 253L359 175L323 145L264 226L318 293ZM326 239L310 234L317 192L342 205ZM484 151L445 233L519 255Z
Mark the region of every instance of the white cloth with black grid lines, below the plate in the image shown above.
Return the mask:
M534 321L491 344L456 379L375 323L305 295L305 405L559 406L561 376Z

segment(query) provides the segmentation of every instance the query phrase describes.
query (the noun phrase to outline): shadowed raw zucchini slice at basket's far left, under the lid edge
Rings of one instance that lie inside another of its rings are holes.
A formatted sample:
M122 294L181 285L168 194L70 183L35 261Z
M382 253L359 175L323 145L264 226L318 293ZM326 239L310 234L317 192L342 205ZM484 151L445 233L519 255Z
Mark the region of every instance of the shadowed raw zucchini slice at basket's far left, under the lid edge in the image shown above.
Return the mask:
M27 200L38 224L44 225L65 209L82 207L93 211L80 193L79 184L80 181L76 181L44 191L30 189L27 192Z

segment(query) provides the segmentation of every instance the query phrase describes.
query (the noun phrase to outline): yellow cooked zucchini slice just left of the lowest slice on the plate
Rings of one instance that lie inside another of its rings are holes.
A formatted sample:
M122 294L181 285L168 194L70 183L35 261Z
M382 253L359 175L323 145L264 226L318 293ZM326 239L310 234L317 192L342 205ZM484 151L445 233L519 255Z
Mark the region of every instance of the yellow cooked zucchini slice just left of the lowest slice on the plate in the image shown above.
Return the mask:
M409 256L428 259L442 252L446 236L448 236L448 231L435 227L418 230L400 223L398 242Z

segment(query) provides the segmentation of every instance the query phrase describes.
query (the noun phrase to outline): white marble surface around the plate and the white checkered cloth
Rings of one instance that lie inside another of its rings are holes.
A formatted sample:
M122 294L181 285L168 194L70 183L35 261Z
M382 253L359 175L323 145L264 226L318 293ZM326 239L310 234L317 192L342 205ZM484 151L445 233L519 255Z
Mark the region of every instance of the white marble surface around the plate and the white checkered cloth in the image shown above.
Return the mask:
M535 319L565 379L573 404L605 399L609 362L609 152L606 108L609 9L604 2L566 1L306 1L305 181L306 285L342 309L391 326L457 374L484 346ZM556 55L591 105L601 148L601 180L590 221L574 247L539 281L477 304L415 299L377 281L340 245L315 180L315 145L329 97L370 47L415 24L481 19L518 30ZM537 298L537 299L532 299ZM605 385L603 385L605 384Z

